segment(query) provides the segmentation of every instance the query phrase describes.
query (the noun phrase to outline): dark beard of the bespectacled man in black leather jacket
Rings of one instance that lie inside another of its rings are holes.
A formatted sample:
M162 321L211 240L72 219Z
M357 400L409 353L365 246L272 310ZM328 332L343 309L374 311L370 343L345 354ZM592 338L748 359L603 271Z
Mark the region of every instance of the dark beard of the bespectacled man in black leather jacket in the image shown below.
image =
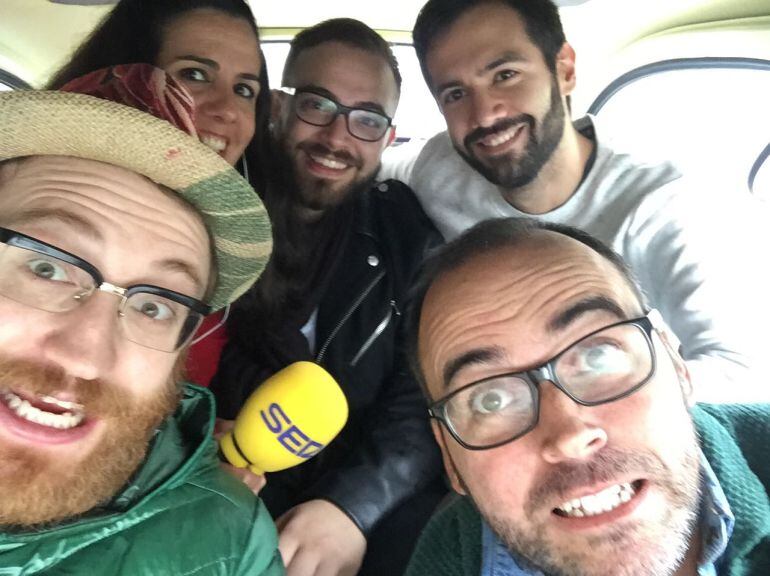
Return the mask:
M301 173L294 162L295 157L292 155L294 150L287 150L285 146L279 149L282 152L281 156L284 157L282 164L287 190L292 192L296 206L312 211L325 211L339 206L368 190L374 183L380 168L378 164L370 172L361 172L355 179L347 183L325 180ZM333 157L356 169L361 166L361 160L354 158L349 152L333 151L322 144L300 143L296 146L295 150L297 149L302 150L305 154Z

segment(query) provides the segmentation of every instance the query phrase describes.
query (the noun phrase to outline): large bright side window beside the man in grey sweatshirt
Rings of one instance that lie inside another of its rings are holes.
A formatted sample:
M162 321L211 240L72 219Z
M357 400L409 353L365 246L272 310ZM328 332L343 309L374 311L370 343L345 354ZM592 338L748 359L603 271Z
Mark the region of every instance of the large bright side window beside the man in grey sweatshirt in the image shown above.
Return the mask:
M624 86L598 113L617 147L667 158L685 173L748 193L748 175L770 140L767 70L691 68Z

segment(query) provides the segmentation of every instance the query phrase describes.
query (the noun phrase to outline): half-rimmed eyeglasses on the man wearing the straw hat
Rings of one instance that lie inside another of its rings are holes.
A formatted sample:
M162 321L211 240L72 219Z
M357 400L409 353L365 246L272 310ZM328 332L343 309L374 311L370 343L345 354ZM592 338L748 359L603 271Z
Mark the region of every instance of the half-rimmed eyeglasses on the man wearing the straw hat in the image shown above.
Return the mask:
M85 260L13 230L0 228L0 296L47 312L69 312L97 290L121 299L126 339L163 352L184 346L210 308L166 288L105 282Z

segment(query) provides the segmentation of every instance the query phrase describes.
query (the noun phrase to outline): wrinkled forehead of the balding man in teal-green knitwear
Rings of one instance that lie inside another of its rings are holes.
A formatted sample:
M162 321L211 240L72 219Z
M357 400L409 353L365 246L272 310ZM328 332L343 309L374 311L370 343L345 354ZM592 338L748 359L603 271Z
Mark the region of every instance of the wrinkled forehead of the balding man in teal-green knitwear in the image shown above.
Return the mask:
M559 247L567 249L554 254ZM502 268L501 262L508 266ZM510 369L525 368L548 359L573 339L568 327L558 333L548 330L555 313L590 298L607 298L628 309L626 292L630 295L619 272L582 245L529 242L493 250L446 272L431 286L420 323L420 353L428 359L430 340L433 373L438 376L440 357L459 357L474 349L474 342L505 342L505 354L495 361ZM512 326L522 328L513 337ZM522 349L534 353L523 358Z

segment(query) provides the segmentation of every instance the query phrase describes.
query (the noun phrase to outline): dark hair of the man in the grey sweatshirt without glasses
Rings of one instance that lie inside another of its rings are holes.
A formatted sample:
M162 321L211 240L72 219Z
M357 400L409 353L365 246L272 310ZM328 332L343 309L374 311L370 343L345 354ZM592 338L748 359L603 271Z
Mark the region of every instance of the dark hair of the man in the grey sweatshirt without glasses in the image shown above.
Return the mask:
M417 15L412 40L422 75L431 91L433 84L428 72L428 50L460 16L482 4L500 4L515 10L524 21L529 39L542 52L549 70L556 72L556 56L566 38L559 9L551 0L428 0Z

